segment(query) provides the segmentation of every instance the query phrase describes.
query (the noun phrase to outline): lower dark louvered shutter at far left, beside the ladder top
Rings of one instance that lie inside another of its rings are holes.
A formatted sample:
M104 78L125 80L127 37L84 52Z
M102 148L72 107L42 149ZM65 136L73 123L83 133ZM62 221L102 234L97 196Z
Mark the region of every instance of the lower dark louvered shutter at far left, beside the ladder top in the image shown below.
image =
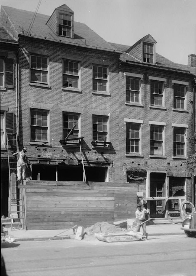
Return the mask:
M15 146L15 114L12 112L5 112L5 140L7 145L7 138L9 147Z

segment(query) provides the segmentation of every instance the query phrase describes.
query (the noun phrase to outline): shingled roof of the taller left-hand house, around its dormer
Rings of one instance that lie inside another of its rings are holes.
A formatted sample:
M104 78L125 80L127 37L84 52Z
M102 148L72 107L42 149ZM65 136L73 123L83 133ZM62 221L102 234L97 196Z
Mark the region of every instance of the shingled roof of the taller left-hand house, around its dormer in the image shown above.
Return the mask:
M102 39L97 33L91 30L84 23L74 21L74 38L69 38L65 36L58 36L56 33L51 31L49 26L46 25L50 18L48 15L37 13L33 26L29 30L34 12L1 6L1 13L5 13L7 16L9 16L8 18L12 22L14 31L17 35L28 35L31 37L46 39L54 42L118 52L109 42ZM4 28L6 29L5 23L1 24L3 24ZM15 39L17 38L15 37Z

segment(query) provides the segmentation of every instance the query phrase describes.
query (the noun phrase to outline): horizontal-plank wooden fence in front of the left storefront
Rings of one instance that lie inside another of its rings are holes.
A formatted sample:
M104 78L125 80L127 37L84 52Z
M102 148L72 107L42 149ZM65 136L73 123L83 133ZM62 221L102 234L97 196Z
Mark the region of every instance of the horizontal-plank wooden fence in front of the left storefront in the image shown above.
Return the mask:
M24 181L28 230L88 227L97 222L134 218L137 184Z

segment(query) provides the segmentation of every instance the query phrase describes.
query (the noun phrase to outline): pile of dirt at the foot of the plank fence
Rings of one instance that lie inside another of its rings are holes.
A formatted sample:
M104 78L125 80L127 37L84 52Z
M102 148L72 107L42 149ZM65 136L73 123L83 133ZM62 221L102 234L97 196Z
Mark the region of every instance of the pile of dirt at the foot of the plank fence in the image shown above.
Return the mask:
M87 235L94 235L95 233L115 233L123 231L123 229L120 226L115 226L114 224L110 224L108 222L97 222L96 224L87 227L84 229L84 232L86 232Z

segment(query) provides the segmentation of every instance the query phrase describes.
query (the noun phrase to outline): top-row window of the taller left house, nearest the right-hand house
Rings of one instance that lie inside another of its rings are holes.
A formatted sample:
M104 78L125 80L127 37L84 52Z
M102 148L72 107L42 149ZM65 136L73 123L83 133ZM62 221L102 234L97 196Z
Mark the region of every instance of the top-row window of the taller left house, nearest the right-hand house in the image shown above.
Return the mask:
M93 66L93 91L107 91L107 67Z

